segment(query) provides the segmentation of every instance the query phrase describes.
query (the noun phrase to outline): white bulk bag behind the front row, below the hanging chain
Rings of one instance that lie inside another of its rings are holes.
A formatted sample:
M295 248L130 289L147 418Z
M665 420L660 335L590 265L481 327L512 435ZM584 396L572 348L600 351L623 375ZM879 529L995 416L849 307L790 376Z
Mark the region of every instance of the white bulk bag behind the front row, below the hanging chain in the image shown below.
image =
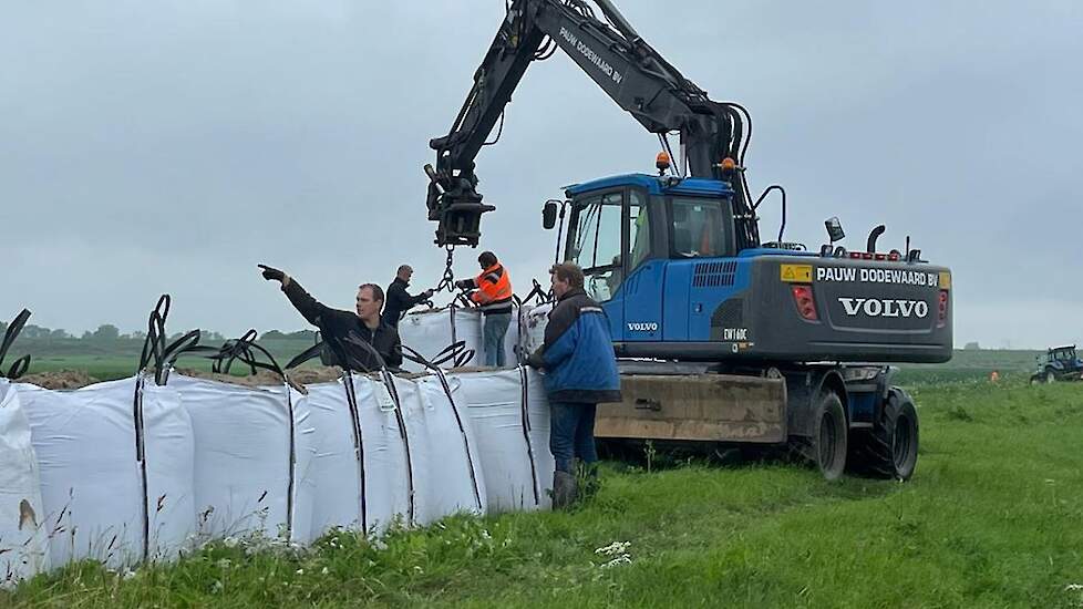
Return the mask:
M463 341L466 349L475 352L474 358L463 362L464 364L477 365L485 362L482 350L482 313L476 309L451 304L408 313L399 322L399 338L403 345L427 360L435 359L448 345ZM443 367L453 368L454 363L448 362ZM409 372L425 371L424 367L411 361L404 361L402 368Z

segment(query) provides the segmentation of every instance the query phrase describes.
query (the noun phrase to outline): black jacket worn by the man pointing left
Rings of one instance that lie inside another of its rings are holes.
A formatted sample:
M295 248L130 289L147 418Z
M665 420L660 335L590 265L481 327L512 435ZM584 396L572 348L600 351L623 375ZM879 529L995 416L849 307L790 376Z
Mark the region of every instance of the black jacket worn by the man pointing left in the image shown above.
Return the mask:
M399 332L391 326L381 322L379 328L370 330L355 312L331 309L319 303L292 278L282 291L293 308L323 334L326 349L321 359L324 364L341 365L359 372L379 370L379 361L360 344L363 341L380 353L389 368L402 365L402 343L399 341Z

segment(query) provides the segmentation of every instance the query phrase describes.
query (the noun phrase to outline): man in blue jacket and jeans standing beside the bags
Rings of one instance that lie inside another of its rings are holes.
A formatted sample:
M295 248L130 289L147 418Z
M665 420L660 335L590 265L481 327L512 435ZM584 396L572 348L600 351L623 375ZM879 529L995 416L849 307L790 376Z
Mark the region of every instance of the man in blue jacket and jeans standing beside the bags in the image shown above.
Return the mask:
M549 396L549 450L556 461L553 506L576 497L575 460L590 468L595 451L595 412L599 402L620 401L620 376L609 318L582 289L582 270L565 262L549 269L557 304L549 312L545 342L527 364L545 370Z

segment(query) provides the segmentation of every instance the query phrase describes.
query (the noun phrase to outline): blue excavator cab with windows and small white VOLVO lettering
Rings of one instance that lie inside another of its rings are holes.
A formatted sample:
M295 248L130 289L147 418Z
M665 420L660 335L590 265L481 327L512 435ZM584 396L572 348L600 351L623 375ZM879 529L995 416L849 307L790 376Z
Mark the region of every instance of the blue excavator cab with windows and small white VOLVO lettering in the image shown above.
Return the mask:
M613 340L688 340L689 309L672 308L668 269L735 256L730 187L629 174L568 186L566 195L561 258L582 268L585 289L606 309Z

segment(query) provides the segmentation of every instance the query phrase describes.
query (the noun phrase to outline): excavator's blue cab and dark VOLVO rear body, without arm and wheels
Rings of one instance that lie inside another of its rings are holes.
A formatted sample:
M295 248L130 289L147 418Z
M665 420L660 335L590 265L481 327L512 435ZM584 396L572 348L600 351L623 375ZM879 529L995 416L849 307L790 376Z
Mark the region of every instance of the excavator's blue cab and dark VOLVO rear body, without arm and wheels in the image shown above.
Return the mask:
M628 358L945 361L950 272L875 252L742 246L724 180L628 174L565 188L563 260ZM551 215L551 214L550 214Z

